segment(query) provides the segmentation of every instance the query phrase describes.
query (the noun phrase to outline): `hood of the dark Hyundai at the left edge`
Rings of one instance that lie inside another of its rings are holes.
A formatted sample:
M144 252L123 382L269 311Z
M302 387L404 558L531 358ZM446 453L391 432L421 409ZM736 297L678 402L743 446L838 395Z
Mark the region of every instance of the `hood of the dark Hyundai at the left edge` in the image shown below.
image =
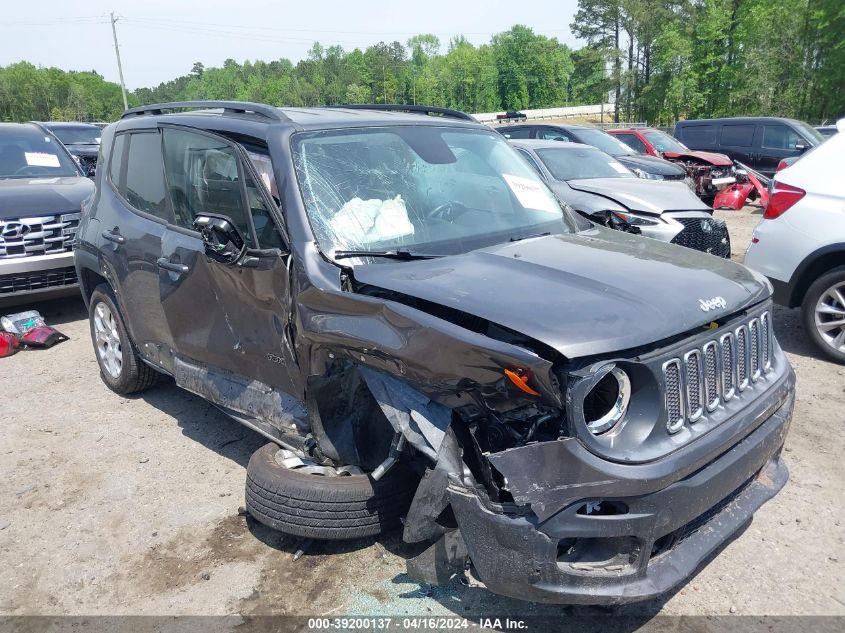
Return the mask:
M0 178L0 218L79 211L93 193L94 183L82 176Z

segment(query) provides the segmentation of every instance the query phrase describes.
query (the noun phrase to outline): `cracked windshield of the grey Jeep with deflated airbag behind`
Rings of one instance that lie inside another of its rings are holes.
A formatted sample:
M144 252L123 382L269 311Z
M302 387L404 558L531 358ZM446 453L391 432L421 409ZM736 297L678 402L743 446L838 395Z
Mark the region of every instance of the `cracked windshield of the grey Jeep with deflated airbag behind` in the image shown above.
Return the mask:
M331 258L350 251L453 255L576 226L507 141L487 130L301 133L293 157L312 229Z

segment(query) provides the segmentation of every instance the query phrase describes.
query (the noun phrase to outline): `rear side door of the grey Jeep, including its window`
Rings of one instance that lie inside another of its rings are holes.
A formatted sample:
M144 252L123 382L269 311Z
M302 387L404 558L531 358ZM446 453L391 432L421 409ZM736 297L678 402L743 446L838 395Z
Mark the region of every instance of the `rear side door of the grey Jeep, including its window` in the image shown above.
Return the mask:
M99 251L133 341L141 355L158 364L160 350L172 343L156 265L170 217L159 131L116 135L108 169L111 186L104 188L99 205L108 209L100 217Z

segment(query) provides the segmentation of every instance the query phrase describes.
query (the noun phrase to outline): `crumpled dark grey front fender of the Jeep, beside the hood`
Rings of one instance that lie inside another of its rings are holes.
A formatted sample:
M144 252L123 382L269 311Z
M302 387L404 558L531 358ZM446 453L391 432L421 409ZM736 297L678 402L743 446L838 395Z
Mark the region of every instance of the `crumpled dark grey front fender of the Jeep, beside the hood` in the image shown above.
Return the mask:
M297 303L298 328L308 349L300 358L306 375L324 373L335 358L398 376L432 400L466 405L468 394L491 391L506 367L524 367L542 400L562 406L552 363L515 345L491 339L392 301L348 292L304 289ZM352 324L354 323L354 326ZM510 394L509 408L538 398Z

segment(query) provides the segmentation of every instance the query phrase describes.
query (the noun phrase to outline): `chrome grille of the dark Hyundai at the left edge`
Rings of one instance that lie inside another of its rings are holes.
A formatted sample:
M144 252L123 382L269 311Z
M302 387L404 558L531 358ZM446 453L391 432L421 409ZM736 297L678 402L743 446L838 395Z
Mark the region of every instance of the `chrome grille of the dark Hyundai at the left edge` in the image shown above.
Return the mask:
M74 212L0 220L0 259L71 251L79 218Z

